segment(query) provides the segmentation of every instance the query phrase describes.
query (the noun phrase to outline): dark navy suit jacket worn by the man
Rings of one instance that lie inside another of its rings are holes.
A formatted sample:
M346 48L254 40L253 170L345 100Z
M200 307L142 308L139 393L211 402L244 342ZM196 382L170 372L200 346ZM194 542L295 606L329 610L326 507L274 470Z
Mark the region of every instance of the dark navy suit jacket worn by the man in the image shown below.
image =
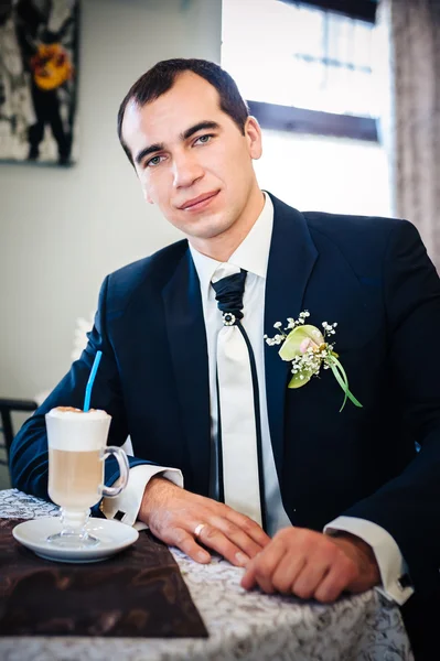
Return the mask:
M398 543L417 590L439 584L440 284L417 230L386 218L301 214L272 198L265 332L310 312L337 322L347 402L330 370L289 390L289 364L265 347L275 462L287 513L322 530L339 514L368 519ZM112 415L109 443L131 435L131 466L182 469L208 494L210 392L198 278L186 240L110 275L82 358L11 448L14 486L47 498L44 414L82 408L97 349L92 404ZM416 443L421 446L417 452ZM117 477L109 459L106 481Z

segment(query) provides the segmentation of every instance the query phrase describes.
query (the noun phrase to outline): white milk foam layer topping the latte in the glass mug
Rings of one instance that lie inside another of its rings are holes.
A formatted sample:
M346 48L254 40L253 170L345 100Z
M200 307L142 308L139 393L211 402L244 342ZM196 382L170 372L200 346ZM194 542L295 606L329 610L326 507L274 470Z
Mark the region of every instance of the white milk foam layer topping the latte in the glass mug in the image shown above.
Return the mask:
M66 452L92 452L107 445L111 416L105 411L58 407L46 414L47 445Z

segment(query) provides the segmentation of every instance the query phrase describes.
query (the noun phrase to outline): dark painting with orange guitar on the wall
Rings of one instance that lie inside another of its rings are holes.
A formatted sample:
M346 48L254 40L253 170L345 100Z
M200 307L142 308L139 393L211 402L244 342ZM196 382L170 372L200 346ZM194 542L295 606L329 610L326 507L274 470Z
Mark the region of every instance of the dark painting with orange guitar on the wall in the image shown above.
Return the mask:
M72 165L79 0L1 0L0 162Z

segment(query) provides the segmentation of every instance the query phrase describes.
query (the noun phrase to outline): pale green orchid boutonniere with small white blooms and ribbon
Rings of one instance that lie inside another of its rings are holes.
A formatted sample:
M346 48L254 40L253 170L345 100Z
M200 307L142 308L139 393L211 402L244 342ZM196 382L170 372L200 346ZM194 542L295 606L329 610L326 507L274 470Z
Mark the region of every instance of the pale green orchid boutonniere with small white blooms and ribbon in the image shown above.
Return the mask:
M337 324L328 324L322 322L323 332L316 326L305 324L310 312L301 312L298 319L288 318L287 327L282 328L281 322L273 324L278 333L273 337L265 335L265 340L272 347L281 345L278 351L282 360L292 364L292 378L289 382L289 388L301 388L314 376L323 369L331 369L337 383L344 391L344 401L340 412L345 407L346 400L353 402L355 407L362 408L361 402L356 400L354 394L348 390L348 379L344 368L339 361L337 354L333 350L334 343L330 343L329 338L335 335Z

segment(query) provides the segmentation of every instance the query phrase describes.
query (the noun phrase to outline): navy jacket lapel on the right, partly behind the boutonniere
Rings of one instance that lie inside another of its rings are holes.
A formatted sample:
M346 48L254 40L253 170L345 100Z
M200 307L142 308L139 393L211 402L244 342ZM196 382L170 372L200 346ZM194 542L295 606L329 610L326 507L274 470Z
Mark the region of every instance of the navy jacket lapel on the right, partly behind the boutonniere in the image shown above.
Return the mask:
M266 281L265 333L272 337L276 322L281 322L285 327L288 317L298 318L318 251L302 214L272 195L270 197L275 213ZM290 362L281 360L277 347L265 345L265 367L270 437L281 483L285 401Z

